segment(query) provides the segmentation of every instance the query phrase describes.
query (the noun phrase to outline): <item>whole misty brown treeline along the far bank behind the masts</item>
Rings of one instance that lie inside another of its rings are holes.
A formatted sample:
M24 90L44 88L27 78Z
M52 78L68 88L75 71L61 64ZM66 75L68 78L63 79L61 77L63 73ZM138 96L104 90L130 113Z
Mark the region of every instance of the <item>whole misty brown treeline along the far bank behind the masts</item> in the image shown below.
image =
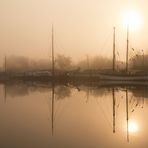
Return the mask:
M130 68L135 70L148 70L148 55L135 55L129 60ZM23 56L8 56L4 61L3 69L11 72L51 70L51 59L30 59ZM125 63L116 61L116 69L125 68ZM73 61L71 57L58 54L55 57L55 69L60 71L104 70L112 69L112 59L102 56L83 57Z

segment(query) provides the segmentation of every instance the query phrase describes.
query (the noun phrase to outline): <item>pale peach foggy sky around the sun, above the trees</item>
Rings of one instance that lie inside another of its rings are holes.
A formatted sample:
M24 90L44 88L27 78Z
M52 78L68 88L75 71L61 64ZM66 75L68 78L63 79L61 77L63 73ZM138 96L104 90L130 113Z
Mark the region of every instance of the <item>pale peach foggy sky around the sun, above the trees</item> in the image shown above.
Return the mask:
M55 52L75 60L112 56L112 31L117 27L117 49L125 58L126 30L120 13L137 9L143 17L141 30L130 33L130 47L148 49L147 0L0 0L0 59L6 55L49 58L51 24Z

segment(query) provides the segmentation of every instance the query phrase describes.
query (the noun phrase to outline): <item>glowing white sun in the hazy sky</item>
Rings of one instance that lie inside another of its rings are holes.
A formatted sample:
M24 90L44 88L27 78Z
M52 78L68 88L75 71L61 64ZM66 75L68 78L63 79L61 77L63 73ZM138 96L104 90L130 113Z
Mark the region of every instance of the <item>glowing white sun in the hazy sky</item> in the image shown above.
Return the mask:
M142 16L137 10L127 10L122 15L123 25L131 31L139 30L142 25Z

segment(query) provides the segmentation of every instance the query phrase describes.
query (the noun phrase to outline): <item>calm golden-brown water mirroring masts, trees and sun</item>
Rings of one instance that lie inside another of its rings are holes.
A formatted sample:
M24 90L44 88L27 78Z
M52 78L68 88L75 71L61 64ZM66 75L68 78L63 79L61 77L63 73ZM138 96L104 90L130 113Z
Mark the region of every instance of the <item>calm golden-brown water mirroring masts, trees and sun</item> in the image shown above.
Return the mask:
M0 85L0 148L147 148L148 88Z

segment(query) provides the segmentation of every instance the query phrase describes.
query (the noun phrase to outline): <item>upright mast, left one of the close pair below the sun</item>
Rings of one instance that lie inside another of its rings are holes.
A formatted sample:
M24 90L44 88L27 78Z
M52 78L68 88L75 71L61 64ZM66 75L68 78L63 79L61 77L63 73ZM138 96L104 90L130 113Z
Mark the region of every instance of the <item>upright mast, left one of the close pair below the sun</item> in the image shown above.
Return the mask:
M113 71L115 71L115 62L116 62L116 28L113 28Z

